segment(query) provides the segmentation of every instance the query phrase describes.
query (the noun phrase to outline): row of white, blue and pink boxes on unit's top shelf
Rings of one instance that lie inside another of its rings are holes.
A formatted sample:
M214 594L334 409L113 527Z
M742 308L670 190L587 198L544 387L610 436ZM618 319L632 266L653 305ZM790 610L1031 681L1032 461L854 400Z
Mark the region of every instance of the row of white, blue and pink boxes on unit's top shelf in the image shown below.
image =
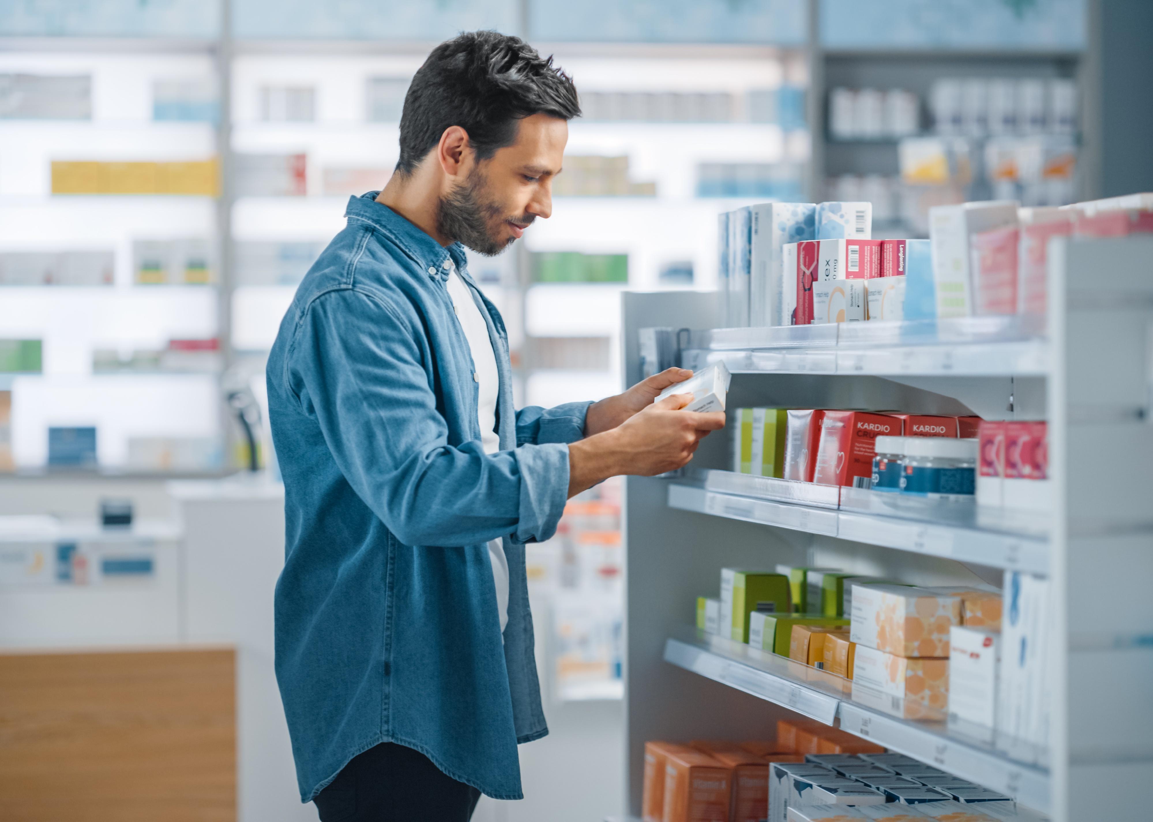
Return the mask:
M1050 237L1153 233L1153 194L1060 208L959 203L928 213L929 240L873 240L868 202L764 203L721 214L722 324L1042 315Z

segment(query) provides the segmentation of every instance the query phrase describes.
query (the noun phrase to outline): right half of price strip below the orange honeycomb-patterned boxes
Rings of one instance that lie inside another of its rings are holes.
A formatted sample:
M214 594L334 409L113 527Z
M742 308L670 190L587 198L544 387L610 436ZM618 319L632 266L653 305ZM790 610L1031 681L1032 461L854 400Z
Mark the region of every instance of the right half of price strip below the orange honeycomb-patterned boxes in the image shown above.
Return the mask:
M839 716L842 730L1013 797L1031 808L1048 810L1049 777L1043 770L921 731L851 702L841 703Z

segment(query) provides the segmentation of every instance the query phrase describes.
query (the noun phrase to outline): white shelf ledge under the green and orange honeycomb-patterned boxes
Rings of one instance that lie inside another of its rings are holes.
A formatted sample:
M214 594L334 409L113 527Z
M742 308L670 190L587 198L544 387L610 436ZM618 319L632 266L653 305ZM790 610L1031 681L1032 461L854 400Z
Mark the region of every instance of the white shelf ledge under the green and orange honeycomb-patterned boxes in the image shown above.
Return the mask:
M902 714L911 709L900 700L695 628L669 638L664 659L827 725L839 722L850 733L1011 795L1031 808L1048 808L1049 775L1040 764L1045 754L1038 748L1015 744L1010 757L992 742L950 726L943 716L904 718Z

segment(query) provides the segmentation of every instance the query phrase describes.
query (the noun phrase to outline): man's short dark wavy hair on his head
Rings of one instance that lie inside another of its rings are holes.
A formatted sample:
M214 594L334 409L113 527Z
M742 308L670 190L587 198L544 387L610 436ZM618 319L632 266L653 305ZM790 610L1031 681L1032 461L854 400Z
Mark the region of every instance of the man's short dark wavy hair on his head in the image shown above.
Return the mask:
M429 54L405 95L397 171L412 174L450 126L460 126L477 159L517 139L533 114L580 116L572 78L519 37L469 31Z

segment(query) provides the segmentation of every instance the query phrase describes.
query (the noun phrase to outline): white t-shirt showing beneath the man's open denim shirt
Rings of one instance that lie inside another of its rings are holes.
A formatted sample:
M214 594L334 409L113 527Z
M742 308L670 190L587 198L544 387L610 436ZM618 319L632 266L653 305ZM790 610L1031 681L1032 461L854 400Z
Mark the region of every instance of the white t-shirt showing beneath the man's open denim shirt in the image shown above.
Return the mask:
M450 261L451 263L451 261ZM476 415L481 424L481 446L484 453L491 454L500 450L500 436L497 433L497 395L500 393L497 376L497 357L492 352L492 340L489 339L489 326L484 315L473 301L468 286L460 279L455 265L450 265L449 296L457 312L460 327L465 331L468 348L473 354L473 365L476 368L473 379L480 389L476 402ZM508 560L504 545L499 540L489 542L489 559L492 560L492 582L497 589L497 611L500 616L500 632L508 624Z

